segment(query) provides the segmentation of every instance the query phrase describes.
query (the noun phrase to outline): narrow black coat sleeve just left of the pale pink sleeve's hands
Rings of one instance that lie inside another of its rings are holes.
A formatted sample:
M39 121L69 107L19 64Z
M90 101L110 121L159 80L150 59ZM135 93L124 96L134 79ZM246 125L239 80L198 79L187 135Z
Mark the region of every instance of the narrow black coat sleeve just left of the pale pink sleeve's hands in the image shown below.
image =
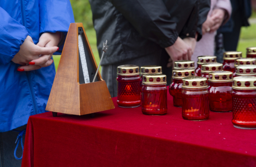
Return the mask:
M197 41L202 38L202 24L207 19L207 14L211 8L211 0L199 0L199 13L198 13L198 23L197 23Z

